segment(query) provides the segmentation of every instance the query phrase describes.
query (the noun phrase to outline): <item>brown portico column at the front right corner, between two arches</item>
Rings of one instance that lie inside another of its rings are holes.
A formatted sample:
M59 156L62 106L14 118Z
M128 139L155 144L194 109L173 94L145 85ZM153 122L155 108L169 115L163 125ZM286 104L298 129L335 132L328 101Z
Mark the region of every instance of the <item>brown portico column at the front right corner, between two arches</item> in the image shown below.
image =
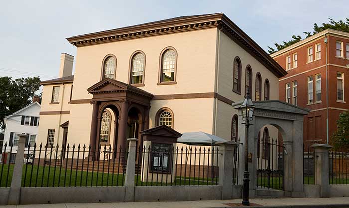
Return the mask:
M126 130L127 130L127 102L126 100L120 100L121 113L119 118L119 130L118 130L118 145L121 146L121 151L125 151L126 147Z

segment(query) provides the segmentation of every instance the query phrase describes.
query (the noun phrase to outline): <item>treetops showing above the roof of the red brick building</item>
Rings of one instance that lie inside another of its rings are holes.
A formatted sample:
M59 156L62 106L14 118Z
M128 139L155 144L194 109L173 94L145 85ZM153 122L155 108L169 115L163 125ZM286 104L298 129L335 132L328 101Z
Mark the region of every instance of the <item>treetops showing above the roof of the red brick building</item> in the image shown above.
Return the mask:
M315 35L321 31L324 31L326 29L334 29L334 30L338 30L338 31L342 31L342 32L349 32L349 18L346 18L345 21L343 20L339 20L339 21L335 21L332 18L329 18L329 23L322 23L321 26L318 26L317 23L314 23L313 25L313 32L304 32L304 34L306 35L306 38ZM269 50L268 52L270 54L275 53L279 50L282 50L292 44L295 44L296 42L301 41L302 38L298 35L292 35L292 40L286 42L283 41L283 44L278 44L278 43L274 43L276 50L270 46L268 46Z

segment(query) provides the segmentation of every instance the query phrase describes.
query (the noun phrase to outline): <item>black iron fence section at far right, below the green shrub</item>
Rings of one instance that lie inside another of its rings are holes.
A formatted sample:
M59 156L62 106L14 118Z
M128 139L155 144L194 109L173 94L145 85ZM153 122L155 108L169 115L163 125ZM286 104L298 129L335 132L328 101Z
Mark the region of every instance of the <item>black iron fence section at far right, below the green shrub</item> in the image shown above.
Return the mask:
M349 184L349 152L329 151L329 184Z

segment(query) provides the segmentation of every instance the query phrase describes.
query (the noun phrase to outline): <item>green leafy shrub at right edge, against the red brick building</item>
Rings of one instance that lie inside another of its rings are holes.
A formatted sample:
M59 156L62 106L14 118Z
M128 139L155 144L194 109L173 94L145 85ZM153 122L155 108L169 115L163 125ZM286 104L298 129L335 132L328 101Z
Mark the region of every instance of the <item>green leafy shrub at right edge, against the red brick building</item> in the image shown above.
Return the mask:
M349 148L349 112L340 114L337 120L337 130L332 135L331 143L335 149Z

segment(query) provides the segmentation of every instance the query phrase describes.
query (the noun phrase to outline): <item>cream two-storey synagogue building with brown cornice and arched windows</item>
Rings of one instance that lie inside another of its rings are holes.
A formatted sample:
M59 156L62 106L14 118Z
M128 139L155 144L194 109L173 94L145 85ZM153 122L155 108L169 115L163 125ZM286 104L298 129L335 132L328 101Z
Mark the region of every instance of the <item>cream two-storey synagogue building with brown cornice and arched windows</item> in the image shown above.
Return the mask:
M242 124L231 104L247 90L253 101L278 100L286 75L223 13L67 40L77 48L74 75L74 57L63 53L59 78L41 83L42 144L125 147L126 138L158 125L237 140ZM278 137L277 130L267 133Z

